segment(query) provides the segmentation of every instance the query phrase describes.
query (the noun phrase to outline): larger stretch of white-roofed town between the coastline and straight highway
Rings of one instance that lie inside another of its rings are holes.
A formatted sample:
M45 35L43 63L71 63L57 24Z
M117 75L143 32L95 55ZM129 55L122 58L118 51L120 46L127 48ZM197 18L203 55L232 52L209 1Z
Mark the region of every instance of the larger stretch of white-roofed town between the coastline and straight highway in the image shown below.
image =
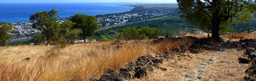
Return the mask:
M100 28L104 28L107 26L124 25L126 23L167 16L174 11L177 11L177 8L136 7L129 12L124 12L123 14L97 15L96 17Z

